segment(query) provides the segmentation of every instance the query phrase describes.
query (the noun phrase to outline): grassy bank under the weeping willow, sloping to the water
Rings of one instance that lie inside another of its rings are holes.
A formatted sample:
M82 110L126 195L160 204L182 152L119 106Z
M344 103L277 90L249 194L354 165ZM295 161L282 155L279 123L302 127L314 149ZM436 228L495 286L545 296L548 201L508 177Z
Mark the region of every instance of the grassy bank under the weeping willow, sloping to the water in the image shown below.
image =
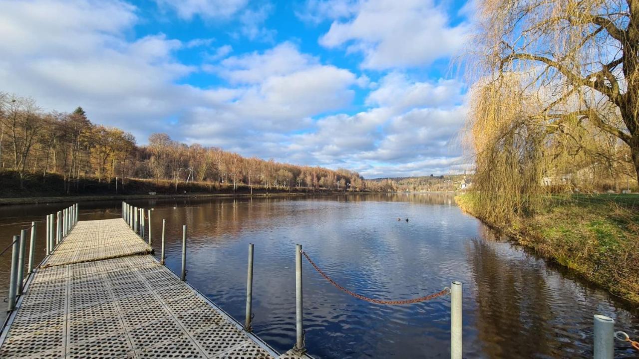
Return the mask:
M639 302L639 195L554 195L539 213L511 223L487 222L473 193L455 199L521 245Z

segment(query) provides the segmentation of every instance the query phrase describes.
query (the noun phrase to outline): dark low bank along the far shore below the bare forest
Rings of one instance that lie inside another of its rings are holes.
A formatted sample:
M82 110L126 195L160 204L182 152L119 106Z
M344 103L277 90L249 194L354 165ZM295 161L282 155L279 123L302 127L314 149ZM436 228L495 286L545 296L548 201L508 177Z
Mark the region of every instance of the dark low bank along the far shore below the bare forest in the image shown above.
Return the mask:
M150 195L149 193L155 193ZM72 183L57 174L46 178L27 178L20 188L19 179L12 172L0 172L0 205L43 202L101 201L110 199L147 199L167 197L229 197L246 195L301 195L334 193L323 188L265 187L240 184L237 188L227 183L179 182L127 178L98 181L81 178Z

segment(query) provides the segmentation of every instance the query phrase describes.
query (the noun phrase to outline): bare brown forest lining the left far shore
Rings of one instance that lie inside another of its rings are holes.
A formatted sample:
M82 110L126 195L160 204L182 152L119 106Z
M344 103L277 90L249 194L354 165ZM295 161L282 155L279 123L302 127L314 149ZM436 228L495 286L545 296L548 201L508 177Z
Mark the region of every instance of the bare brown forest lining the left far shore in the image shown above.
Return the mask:
M328 190L389 190L357 172L246 158L218 147L185 144L152 134L148 145L119 128L92 123L81 107L71 113L43 112L33 98L0 92L0 160L5 175L24 180L62 176L65 192L81 179L115 178L238 186Z

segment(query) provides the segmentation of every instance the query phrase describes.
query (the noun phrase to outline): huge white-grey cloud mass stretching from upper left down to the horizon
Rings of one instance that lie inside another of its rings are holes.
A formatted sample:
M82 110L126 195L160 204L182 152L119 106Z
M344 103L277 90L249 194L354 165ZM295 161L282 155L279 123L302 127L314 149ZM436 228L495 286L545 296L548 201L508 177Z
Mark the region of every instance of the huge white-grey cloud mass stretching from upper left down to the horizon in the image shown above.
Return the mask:
M458 81L415 80L395 70L371 82L291 42L243 53L219 45L204 56L207 65L185 65L181 51L206 51L213 40L132 36L141 10L123 1L0 0L0 8L0 89L33 96L47 111L82 105L96 123L119 126L141 143L167 132L367 177L459 166L451 140L466 108ZM220 82L189 84L203 69ZM344 113L355 91L364 107Z

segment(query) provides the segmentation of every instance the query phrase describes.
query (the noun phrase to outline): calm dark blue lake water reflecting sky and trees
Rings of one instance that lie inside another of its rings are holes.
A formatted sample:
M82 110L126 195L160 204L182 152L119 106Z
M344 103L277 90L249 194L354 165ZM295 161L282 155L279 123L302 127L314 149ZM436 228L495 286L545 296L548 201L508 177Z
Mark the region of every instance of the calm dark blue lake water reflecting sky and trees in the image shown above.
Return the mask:
M461 280L468 358L591 356L594 313L639 335L637 308L495 238L461 213L449 194L131 203L155 208L158 253L167 219L167 266L173 271L180 270L181 225L189 225L187 281L240 321L247 248L254 243L253 326L281 352L295 342L295 243L344 287L374 298L413 298ZM43 243L44 215L64 207L0 208L0 247L32 220L40 221ZM80 220L115 218L120 202L84 202L80 208ZM40 261L43 248L37 249ZM3 298L8 260L7 254L0 257ZM363 302L304 263L306 342L316 358L447 358L449 306L448 296L393 307ZM618 343L617 356L639 353Z

